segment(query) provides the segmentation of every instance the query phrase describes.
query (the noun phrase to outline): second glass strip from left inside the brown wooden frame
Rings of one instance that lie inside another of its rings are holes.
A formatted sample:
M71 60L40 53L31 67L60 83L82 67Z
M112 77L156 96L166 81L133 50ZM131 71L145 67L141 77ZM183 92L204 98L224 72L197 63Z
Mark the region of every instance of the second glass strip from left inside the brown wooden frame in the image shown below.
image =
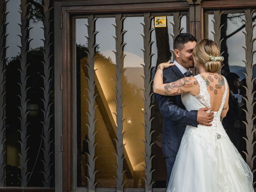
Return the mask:
M99 44L97 54L99 57L95 60L96 70L96 88L99 92L97 97L96 109L96 182L99 182L97 187L116 187L116 138L114 127L116 125L116 103L115 103L115 41L112 36L115 36L115 18L98 18L96 20L96 30L99 32L96 35L96 43ZM98 111L98 113L97 113Z

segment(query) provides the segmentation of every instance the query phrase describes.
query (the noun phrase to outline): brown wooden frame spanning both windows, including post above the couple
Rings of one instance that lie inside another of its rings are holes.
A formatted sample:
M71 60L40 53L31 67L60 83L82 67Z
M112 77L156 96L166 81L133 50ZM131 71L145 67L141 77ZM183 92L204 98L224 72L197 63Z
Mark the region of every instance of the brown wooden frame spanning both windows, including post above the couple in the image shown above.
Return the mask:
M188 0L190 2L190 0ZM181 0L54 0L54 44L55 44L55 191L72 190L72 68L70 16L86 13L164 12L189 10L189 32L200 40L204 36L204 10L216 8L244 8L255 6L254 0L197 0L194 4ZM196 6L199 8L196 9ZM199 16L196 11L199 10ZM191 16L189 18L192 18ZM199 31L199 34L195 34ZM107 189L106 189L107 190ZM136 191L136 188L134 188ZM153 189L155 191L155 189Z

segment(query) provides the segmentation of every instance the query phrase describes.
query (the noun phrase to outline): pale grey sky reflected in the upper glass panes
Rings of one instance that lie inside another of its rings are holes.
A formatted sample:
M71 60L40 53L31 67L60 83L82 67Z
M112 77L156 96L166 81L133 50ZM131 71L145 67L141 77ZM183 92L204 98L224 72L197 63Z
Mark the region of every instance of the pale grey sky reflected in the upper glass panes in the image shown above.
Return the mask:
M7 25L6 32L9 34L6 38L6 44L10 46L7 49L7 56L12 57L16 56L20 49L18 45L20 45L20 0L10 0L7 5L7 10L9 14L7 15L7 22L10 24ZM213 15L209 15L209 31L213 31L213 25L211 20L213 19ZM173 22L172 16L167 16L168 20L168 31L172 33L172 25L170 22ZM76 19L76 42L78 44L86 44L87 36L87 28L84 25L87 23L86 19ZM112 24L115 23L114 18L99 18L96 21L96 30L99 33L96 35L96 43L100 44L99 51L102 52L106 57L110 57L113 62L115 62L115 55L112 50L115 50L115 41L112 36L115 35L115 28ZM143 23L143 17L127 17L124 20L124 29L127 30L124 35L124 42L126 42L126 46L124 46L124 53L127 54L125 58L125 67L137 67L140 64L143 64L143 52L141 49L143 48L143 39L140 34L143 34L143 27L140 23ZM185 29L182 32L186 32L186 16L182 17L182 26ZM230 34L243 23L238 23L238 26L232 24L232 22L228 21L228 31L227 34ZM39 46L43 46L43 42L40 39L44 39L44 34L42 30L42 22L34 24L30 22L30 26L33 27L30 30L30 38L33 40L30 42L30 48L37 48ZM228 53L229 53L229 65L230 66L244 66L242 60L245 59L244 49L242 46L245 46L245 38L242 33L243 30L236 33L234 36L228 39ZM254 37L256 36L256 28L254 28ZM209 38L213 39L213 35L209 32ZM156 39L155 32L152 32L152 40L154 41L152 45L152 52L155 55L152 57L152 64L156 63ZM170 48L172 49L172 37L169 35L169 43ZM255 44L254 44L255 45ZM254 56L255 58L255 56Z

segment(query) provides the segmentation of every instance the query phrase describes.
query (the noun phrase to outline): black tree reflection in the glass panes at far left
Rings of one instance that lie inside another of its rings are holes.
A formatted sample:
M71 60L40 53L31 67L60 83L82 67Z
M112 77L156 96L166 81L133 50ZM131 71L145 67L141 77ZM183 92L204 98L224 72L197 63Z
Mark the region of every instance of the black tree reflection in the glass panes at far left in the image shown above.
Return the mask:
M28 146L30 146L28 150L28 171L32 170L33 163L35 162L36 156L35 152L38 151L38 146L42 130L42 121L44 114L40 109L44 108L44 104L42 102L43 92L42 87L44 87L42 76L44 76L44 68L42 65L43 58L43 47L38 47L36 49L30 49L27 54L27 62L29 63L27 68L28 81L26 87L27 91L27 99L29 100L28 104L36 104L38 105L38 115L35 117L28 116ZM18 99L18 95L20 95L20 88L17 82L20 81L20 73L17 70L20 66L19 60L20 54L15 57L12 57L8 64L6 65L6 124L9 129L6 131L6 142L8 145L14 146L19 149L17 140L19 140L19 134L15 134L17 132L17 127L20 127L20 122L18 121L18 117L20 116L20 110L18 106L20 106L20 100ZM54 86L52 86L54 88ZM50 114L53 114L54 106L50 108ZM50 124L50 127L54 126L54 120ZM16 140L13 139L16 138ZM54 140L54 134L51 135L51 140ZM51 151L54 151L54 145L51 145ZM44 145L42 146L44 148ZM33 176L28 183L28 186L43 186L42 180L44 180L43 174L41 173L43 168L43 164L40 163L44 159L42 150L40 150L39 160L35 166L35 170L33 172ZM54 156L51 156L51 162L54 162ZM54 174L54 168L51 169L51 175Z

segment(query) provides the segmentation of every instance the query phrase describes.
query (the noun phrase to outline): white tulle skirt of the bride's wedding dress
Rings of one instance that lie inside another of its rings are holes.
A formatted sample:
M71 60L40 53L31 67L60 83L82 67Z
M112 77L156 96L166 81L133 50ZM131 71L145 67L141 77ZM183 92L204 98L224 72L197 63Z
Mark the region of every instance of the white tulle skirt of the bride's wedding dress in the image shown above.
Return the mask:
M228 136L210 146L191 130L182 138L167 192L254 192L252 172Z

